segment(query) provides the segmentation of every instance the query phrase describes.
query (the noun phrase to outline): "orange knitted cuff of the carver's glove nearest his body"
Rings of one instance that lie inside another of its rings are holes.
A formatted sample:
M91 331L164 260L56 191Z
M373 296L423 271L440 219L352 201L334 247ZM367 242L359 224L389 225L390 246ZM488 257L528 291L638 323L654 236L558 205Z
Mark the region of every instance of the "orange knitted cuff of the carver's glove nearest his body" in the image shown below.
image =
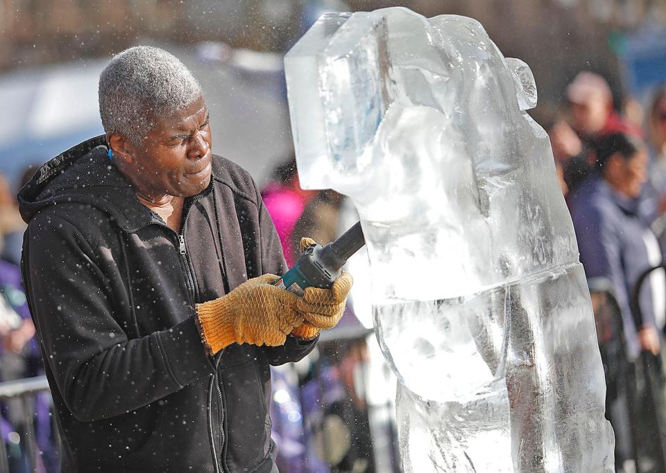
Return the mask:
M227 302L221 297L196 305L201 341L211 355L236 341L233 323L227 316Z

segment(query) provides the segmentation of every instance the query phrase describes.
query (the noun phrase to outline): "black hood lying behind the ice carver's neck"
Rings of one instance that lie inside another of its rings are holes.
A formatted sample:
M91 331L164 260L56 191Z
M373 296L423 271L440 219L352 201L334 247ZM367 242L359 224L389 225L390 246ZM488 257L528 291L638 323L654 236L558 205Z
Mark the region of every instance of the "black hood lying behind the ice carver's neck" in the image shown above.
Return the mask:
M17 195L28 223L57 204L85 204L108 213L126 231L149 224L152 213L139 203L130 182L109 160L106 136L83 141L42 165Z

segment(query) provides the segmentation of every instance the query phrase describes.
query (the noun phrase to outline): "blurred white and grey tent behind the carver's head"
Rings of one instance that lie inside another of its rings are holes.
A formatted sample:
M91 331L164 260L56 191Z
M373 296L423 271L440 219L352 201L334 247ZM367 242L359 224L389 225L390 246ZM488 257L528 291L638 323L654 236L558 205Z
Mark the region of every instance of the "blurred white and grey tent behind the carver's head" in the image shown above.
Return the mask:
M141 44L167 49L191 69L210 107L214 152L241 164L263 184L274 163L293 148L281 56L221 43ZM28 164L44 163L103 132L97 80L106 62L81 60L0 76L0 172L10 181L17 181Z

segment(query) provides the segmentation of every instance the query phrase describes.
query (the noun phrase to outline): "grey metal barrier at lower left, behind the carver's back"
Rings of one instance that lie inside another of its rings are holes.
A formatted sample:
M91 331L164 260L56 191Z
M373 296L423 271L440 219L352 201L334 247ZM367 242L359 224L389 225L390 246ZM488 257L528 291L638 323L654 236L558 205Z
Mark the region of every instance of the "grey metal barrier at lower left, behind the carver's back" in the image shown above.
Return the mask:
M49 382L46 376L25 378L23 380L6 381L0 383L0 401L20 398L23 407L24 448L31 471L37 470L37 438L35 436L35 395L42 391L49 391ZM0 473L10 473L7 449L3 439L0 439Z

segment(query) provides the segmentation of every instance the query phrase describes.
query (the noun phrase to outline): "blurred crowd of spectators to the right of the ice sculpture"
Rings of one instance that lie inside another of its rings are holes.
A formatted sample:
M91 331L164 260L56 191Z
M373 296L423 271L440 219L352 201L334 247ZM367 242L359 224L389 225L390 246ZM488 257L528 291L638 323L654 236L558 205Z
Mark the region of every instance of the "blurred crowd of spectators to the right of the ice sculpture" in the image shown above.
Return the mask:
M580 72L548 126L592 295L618 471L666 471L666 86L617 107Z

